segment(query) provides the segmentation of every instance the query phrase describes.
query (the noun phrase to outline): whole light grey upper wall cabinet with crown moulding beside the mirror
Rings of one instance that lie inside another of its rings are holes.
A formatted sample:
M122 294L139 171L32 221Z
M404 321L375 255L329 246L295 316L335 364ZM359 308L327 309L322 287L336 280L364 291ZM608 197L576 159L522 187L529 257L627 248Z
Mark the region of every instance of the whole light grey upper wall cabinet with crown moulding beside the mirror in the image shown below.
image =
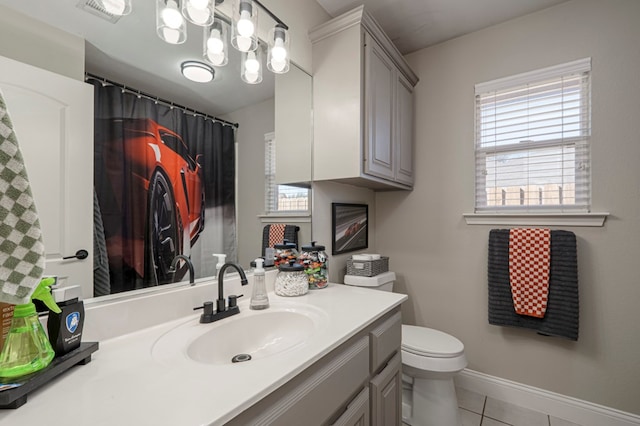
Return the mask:
M411 189L418 77L363 7L309 34L313 180Z

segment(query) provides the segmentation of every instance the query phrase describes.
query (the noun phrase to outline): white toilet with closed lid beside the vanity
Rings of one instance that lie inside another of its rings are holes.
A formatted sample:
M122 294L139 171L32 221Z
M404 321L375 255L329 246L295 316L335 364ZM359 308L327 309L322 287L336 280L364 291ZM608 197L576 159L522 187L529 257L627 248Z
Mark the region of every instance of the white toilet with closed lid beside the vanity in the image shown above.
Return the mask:
M345 275L344 283L392 291L394 272ZM453 377L467 366L464 345L426 327L402 325L402 421L411 426L460 426Z

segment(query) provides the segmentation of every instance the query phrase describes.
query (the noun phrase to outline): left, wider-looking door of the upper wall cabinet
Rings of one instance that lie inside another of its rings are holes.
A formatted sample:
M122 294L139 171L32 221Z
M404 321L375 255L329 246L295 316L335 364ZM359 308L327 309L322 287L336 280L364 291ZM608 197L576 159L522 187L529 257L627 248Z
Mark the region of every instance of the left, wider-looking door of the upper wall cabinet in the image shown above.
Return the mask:
M394 180L393 105L396 69L378 43L365 32L364 172Z

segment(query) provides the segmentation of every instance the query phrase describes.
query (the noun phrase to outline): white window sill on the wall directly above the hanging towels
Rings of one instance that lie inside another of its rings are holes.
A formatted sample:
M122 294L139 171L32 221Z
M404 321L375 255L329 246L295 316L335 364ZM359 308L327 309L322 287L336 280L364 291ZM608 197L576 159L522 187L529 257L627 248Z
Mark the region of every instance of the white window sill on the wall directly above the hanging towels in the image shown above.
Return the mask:
M464 213L467 225L604 226L603 213Z

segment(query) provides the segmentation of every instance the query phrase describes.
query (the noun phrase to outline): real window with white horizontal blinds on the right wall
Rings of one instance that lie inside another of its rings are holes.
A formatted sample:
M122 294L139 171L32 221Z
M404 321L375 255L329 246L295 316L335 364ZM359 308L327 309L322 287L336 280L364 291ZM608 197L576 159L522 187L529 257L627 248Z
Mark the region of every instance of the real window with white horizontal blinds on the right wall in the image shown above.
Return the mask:
M588 212L591 60L476 85L477 213Z

